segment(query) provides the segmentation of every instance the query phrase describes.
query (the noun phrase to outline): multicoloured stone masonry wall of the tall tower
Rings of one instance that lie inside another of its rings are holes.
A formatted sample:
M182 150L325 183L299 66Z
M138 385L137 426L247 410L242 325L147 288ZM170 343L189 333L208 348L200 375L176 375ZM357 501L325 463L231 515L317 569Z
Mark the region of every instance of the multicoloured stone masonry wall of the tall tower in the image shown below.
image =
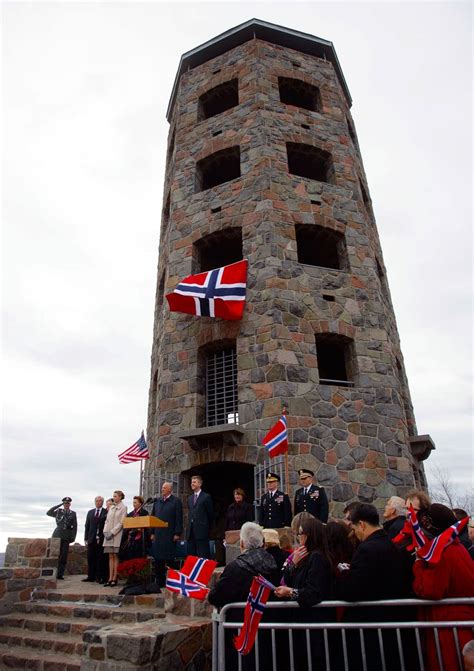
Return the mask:
M280 102L279 76L318 86L322 112ZM239 80L239 105L198 122L199 96L233 78ZM261 439L284 404L292 489L296 470L311 468L327 489L331 514L340 515L355 498L383 507L387 497L415 484L409 436L416 426L375 219L361 190L363 184L368 194L362 159L349 125L354 128L331 63L268 42L249 41L182 75L164 189L170 208L160 238L147 473L165 463L176 472L216 461L261 463ZM286 142L330 152L333 183L289 174ZM241 177L195 193L196 162L235 145ZM299 263L296 224L342 233L347 269ZM243 258L249 261L243 319L170 313L164 293L196 272L193 243L235 226L242 228ZM328 332L353 339L352 388L319 383L315 335ZM236 341L245 433L236 447L216 438L194 450L179 434L198 426L204 404L199 348L220 340Z

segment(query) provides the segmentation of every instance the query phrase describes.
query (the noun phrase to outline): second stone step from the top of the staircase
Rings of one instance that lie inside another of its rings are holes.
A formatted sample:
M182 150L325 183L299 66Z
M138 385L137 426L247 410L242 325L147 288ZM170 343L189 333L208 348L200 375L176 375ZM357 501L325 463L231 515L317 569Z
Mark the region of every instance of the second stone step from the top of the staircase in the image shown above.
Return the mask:
M81 604L71 602L26 601L15 604L15 614L35 613L59 618L80 618L96 620L93 624L110 624L112 622L146 622L165 617L163 608L144 610L135 606L116 606L105 604Z

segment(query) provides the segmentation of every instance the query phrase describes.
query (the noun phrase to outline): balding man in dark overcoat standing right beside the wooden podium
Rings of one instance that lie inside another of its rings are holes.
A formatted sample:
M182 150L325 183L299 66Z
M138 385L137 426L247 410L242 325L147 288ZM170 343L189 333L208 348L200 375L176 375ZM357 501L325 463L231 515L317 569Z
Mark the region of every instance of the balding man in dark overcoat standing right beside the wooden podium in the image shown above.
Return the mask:
M183 504L173 494L171 482L164 482L161 487L162 496L153 501L151 514L163 522L167 527L153 529L153 556L155 557L156 581L160 587L166 583L166 566L176 568L176 541L183 533Z

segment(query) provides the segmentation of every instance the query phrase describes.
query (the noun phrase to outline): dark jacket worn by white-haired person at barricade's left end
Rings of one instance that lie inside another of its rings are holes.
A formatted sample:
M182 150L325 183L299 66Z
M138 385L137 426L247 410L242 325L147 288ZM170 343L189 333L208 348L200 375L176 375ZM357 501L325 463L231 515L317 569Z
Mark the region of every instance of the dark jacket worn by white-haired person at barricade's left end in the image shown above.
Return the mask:
M208 594L209 603L221 608L228 603L247 601L252 580L257 575L278 584L275 560L263 548L247 550L227 564L216 586Z

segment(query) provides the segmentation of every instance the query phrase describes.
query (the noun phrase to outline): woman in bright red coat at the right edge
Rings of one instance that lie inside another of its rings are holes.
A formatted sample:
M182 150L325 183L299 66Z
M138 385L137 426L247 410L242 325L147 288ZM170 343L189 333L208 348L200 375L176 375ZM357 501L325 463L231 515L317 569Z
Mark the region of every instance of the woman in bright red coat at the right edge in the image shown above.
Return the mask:
M420 524L429 538L439 536L456 522L452 511L440 503L433 503L422 516ZM413 566L413 589L420 599L452 599L474 597L474 562L466 548L456 539L448 545L437 563L417 559ZM422 609L420 620L443 622L447 620L473 620L474 606L430 606ZM472 639L471 629L458 629L459 648ZM439 643L445 671L457 671L458 661L454 635L450 629L439 629ZM426 668L440 669L434 633L426 635Z

